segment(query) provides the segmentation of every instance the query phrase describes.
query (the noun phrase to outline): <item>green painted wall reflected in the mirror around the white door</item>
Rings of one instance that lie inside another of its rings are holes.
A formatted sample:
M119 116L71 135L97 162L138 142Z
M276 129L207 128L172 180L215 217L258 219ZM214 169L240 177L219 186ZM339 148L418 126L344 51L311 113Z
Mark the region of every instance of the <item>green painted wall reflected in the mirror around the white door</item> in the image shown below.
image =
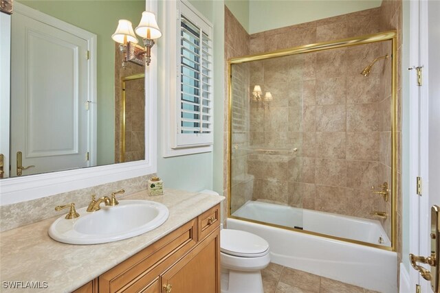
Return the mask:
M121 1L19 1L98 36L98 165L114 163L115 158L115 42L111 35L119 19L133 27L145 10L144 0Z

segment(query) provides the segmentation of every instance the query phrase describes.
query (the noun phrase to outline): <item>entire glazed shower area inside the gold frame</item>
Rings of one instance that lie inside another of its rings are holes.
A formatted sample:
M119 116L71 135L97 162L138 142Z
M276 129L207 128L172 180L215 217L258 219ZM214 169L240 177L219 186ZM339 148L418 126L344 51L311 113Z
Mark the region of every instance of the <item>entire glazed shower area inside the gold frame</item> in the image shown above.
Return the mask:
M392 247L392 40L232 62L232 217Z

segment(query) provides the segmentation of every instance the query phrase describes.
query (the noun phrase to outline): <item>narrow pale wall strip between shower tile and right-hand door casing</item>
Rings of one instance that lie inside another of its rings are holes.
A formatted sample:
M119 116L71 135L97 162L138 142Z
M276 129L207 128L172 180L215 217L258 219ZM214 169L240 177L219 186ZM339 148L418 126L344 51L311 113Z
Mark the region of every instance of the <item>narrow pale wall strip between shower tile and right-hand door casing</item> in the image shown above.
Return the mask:
M410 72L406 70L410 67L410 1L402 1L402 45L401 45L401 99L402 99L402 132L401 132L401 196L402 196L402 210L401 210L401 222L402 222L402 262L404 263L406 270L410 270L410 261L407 255L410 253L410 138L409 138L409 104L410 104ZM414 80L412 80L414 82Z

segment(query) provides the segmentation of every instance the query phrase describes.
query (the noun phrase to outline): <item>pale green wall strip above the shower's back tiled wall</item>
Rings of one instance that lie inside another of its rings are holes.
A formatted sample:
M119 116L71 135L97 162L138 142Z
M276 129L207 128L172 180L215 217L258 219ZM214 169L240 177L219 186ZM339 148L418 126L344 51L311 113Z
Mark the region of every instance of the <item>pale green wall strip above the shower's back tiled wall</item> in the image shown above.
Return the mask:
M379 7L382 0L351 1L259 1L249 6L249 33L264 32L288 25L307 23L331 16ZM242 23L243 25L243 23ZM244 25L243 25L244 26Z

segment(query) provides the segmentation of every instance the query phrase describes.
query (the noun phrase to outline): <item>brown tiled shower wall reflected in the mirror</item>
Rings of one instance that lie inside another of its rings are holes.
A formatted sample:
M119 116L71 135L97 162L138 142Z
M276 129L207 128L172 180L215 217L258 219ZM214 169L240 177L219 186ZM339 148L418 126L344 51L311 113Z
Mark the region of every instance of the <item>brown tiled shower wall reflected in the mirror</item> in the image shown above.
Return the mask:
M144 73L145 67L127 62L122 68L122 53L115 45L115 163L122 163L122 84L121 78ZM125 102L124 162L145 159L145 91L144 78L129 80Z

